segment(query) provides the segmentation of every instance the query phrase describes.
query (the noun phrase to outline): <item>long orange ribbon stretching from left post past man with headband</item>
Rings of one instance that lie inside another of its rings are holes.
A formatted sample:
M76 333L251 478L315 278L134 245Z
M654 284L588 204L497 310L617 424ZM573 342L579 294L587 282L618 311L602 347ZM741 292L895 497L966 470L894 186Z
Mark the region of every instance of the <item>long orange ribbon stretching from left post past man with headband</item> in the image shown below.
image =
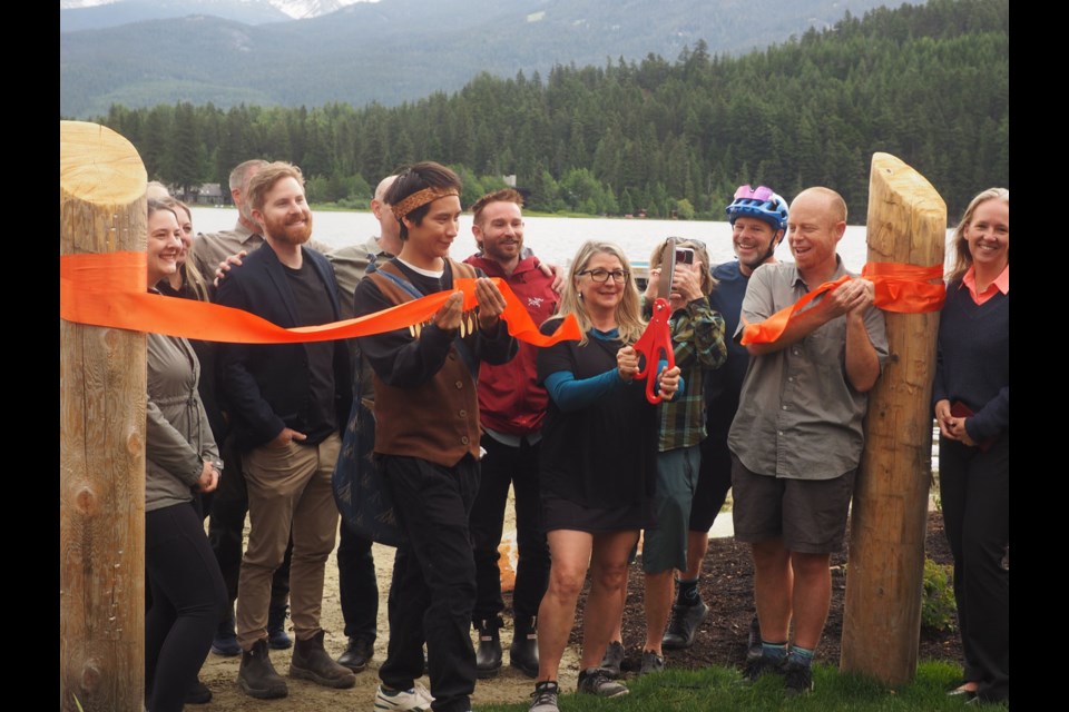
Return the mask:
M59 316L68 322L134 332L153 332L206 342L288 344L327 342L404 329L433 318L451 291L439 291L413 301L321 326L283 328L248 312L218 304L149 294L145 285L144 253L62 255L59 258ZM573 315L552 335L542 334L512 289L493 278L504 296L509 334L534 346L551 346L581 336ZM477 306L475 280L457 279L464 309Z

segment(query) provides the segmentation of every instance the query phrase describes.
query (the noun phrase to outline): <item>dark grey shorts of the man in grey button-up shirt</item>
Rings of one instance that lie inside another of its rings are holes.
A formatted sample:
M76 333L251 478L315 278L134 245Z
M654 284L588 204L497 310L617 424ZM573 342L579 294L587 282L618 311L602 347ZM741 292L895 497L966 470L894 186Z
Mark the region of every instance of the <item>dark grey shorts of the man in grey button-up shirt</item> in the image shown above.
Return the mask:
M787 551L803 554L841 551L856 474L854 468L832 479L758 475L733 454L735 538L754 544L782 537Z

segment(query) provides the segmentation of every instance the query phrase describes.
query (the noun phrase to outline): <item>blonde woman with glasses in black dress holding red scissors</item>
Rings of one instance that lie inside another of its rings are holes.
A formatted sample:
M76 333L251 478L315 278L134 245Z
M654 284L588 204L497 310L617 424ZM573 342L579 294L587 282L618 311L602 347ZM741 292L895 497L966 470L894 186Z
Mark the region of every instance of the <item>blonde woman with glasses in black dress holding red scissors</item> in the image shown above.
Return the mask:
M542 349L538 358L538 377L550 397L539 477L552 563L539 607L531 712L557 710L557 673L588 568L579 692L627 694L599 664L620 617L620 589L647 523L656 472L657 411L635 383L640 363L632 345L645 324L630 265L617 245L588 241L579 248L560 313L543 332L552 333L568 314L578 319L582 338ZM670 400L679 369L663 369L657 379L660 395Z

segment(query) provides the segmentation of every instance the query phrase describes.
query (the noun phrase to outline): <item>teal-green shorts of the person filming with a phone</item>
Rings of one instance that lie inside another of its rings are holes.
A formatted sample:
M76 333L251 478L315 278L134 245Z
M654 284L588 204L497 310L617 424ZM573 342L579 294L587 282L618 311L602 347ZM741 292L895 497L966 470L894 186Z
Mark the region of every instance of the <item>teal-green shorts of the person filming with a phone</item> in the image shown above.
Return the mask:
M643 571L656 574L687 570L690 502L698 484L702 452L697 445L657 454L654 525L643 538Z

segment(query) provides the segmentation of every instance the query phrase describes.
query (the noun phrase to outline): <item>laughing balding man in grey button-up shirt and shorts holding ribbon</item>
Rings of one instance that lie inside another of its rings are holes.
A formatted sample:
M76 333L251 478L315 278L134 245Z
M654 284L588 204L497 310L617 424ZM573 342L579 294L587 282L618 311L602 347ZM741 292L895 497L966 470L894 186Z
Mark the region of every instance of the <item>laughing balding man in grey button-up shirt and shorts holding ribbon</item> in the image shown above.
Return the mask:
M736 336L808 291L846 275L835 253L846 204L810 188L791 205L795 263L754 270ZM735 535L752 545L762 655L747 680L786 676L787 694L813 686L811 662L831 604L831 554L843 544L863 445L865 395L887 356L872 283L851 279L817 298L771 344L751 344L728 435ZM794 640L787 645L793 622Z

